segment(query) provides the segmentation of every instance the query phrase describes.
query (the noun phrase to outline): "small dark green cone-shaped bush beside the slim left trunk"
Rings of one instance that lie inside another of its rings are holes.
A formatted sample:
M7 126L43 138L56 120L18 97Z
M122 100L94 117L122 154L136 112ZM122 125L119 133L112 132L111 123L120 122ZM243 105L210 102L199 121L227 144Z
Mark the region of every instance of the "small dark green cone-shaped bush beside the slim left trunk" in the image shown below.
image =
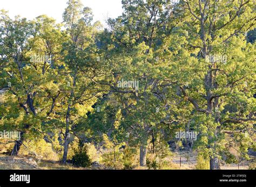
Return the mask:
M79 140L78 148L74 150L74 155L72 157L72 164L76 167L90 167L91 159L87 154L88 146Z

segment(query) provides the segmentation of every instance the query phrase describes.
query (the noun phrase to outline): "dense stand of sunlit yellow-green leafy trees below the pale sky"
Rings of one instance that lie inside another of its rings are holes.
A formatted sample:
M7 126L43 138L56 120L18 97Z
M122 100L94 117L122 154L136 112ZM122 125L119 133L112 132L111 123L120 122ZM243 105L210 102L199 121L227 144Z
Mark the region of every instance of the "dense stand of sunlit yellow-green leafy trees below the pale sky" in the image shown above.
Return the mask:
M122 4L106 28L79 0L68 1L63 23L0 11L0 131L21 132L20 140L0 139L0 149L51 151L90 167L93 146L114 169L156 169L173 147L196 152L203 169L249 160L255 2Z

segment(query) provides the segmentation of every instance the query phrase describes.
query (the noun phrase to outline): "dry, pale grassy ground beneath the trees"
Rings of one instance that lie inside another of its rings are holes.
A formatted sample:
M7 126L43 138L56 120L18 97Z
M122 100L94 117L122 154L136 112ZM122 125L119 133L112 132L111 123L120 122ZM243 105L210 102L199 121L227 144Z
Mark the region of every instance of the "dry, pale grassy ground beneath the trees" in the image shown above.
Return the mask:
M188 152L176 152L172 155L173 169L195 169L196 168L196 155L191 155L188 157ZM181 159L181 167L180 167ZM255 161L255 160L254 160ZM252 161L251 161L252 162ZM249 164L251 162L241 162L239 163L239 169L249 169ZM62 164L58 161L50 160L35 160L33 157L25 156L8 156L0 154L0 170L4 169L85 169L85 168L76 168L71 164ZM89 169L89 168L88 168ZM92 169L92 168L91 168ZM93 168L97 169L97 168ZM138 167L136 169L146 169ZM221 163L221 169L238 169L238 164L224 164Z

